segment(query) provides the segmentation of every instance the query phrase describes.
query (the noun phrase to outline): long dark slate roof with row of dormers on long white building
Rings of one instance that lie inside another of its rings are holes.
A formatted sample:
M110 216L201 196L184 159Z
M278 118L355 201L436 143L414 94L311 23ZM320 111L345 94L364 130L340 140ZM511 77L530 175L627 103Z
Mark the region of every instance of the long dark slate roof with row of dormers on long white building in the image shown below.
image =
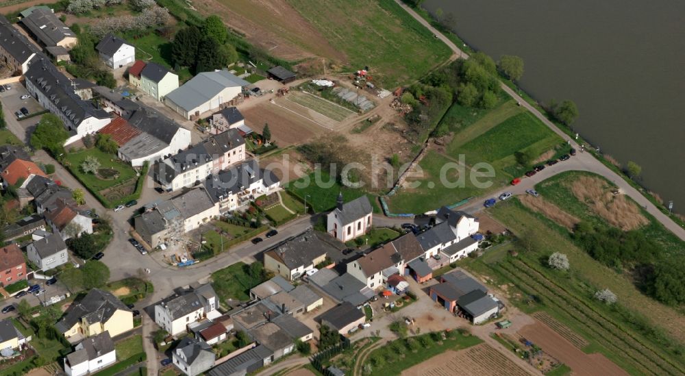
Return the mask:
M60 109L60 112L78 126L84 119L95 117L99 119L109 118L110 115L104 110L95 108L89 101L82 100L69 86L69 79L47 60L42 58L31 64L25 74L27 81L32 82L49 100ZM75 131L65 124L68 131Z

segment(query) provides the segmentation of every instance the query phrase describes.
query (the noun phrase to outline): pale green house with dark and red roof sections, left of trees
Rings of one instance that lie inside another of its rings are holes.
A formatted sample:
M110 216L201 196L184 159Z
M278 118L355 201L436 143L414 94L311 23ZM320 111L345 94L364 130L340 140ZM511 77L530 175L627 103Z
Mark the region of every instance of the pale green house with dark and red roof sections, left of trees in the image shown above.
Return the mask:
M164 101L166 95L178 88L178 76L169 69L140 60L129 69L129 82L158 101Z

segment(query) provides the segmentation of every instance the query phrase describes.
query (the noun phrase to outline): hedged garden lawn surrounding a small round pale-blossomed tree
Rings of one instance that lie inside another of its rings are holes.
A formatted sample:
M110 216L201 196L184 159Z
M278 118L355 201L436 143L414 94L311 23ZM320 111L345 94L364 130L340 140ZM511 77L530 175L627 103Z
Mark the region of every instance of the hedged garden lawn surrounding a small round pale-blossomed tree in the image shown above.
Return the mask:
M80 165L86 160L86 155L92 155L97 158L100 162L100 168L114 168L116 171L119 171L119 177L105 180L90 173L83 173ZM90 187L90 190L95 192L105 190L112 186L119 185L124 181L128 181L129 179L136 178L136 171L129 164L116 158L116 155L103 153L103 151L100 151L100 149L95 147L75 153L66 153L65 158L71 165L69 171L71 171L72 174L77 175L84 185Z

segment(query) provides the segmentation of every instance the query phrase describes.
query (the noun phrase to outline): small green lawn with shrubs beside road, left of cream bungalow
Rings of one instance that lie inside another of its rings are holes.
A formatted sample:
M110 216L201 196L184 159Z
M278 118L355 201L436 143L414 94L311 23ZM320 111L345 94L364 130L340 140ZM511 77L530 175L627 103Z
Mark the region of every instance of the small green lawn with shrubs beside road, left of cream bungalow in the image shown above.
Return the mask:
M237 262L212 273L212 287L222 301L228 299L247 301L250 299L250 289L263 281L261 276L250 277L249 265L244 262Z

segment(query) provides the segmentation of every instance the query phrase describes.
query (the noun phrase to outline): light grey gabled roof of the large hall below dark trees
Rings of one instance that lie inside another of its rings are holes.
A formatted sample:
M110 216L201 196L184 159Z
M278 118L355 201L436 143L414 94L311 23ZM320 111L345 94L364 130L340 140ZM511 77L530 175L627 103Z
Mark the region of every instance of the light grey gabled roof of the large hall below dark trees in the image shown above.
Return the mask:
M146 67L147 68L147 67ZM145 70L143 70L145 72ZM180 108L186 111L192 111L199 107L202 103L210 101L210 99L219 95L221 90L232 87L244 87L250 83L242 78L229 73L228 71L218 72L203 72L190 81L183 84L183 86L173 90L166 95L167 99L171 99ZM231 98L225 98L229 100Z

